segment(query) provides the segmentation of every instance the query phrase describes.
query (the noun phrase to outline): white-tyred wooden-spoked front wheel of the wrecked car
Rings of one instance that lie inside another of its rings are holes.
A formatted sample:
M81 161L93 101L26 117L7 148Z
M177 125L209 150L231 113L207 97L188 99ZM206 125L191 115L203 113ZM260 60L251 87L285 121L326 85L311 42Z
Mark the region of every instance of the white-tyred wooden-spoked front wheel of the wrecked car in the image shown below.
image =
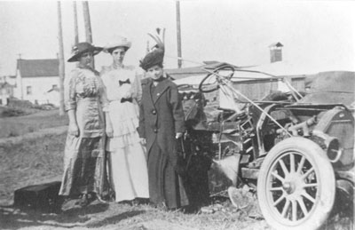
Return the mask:
M327 155L310 139L281 141L265 156L257 199L276 229L318 229L335 201L335 173Z

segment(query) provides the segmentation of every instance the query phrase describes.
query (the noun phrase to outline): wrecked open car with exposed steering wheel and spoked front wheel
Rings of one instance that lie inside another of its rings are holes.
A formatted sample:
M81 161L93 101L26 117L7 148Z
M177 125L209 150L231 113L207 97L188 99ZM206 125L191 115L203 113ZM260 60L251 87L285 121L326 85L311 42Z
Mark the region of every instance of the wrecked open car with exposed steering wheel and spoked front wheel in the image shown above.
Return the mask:
M220 74L226 70L228 75ZM337 196L352 199L355 73L319 73L306 93L290 86L289 92L256 101L231 84L241 71L217 67L203 78L198 91L179 87L183 104L188 105L185 118L190 131L203 131L209 142L195 146L213 145L208 147L216 149L213 161L233 165L235 173L229 174L233 186L255 186L270 226L318 229ZM228 109L215 107L217 118L207 121L201 94L211 91L223 91L235 103Z

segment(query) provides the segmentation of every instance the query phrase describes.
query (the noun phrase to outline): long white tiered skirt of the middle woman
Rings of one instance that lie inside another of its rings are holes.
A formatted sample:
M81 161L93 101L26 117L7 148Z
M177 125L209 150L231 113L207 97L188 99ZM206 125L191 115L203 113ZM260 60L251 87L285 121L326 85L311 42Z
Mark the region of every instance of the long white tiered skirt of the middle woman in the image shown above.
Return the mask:
M110 153L111 186L115 201L149 198L146 147L138 136L138 107L121 101L111 101L109 115L114 137L107 139Z

